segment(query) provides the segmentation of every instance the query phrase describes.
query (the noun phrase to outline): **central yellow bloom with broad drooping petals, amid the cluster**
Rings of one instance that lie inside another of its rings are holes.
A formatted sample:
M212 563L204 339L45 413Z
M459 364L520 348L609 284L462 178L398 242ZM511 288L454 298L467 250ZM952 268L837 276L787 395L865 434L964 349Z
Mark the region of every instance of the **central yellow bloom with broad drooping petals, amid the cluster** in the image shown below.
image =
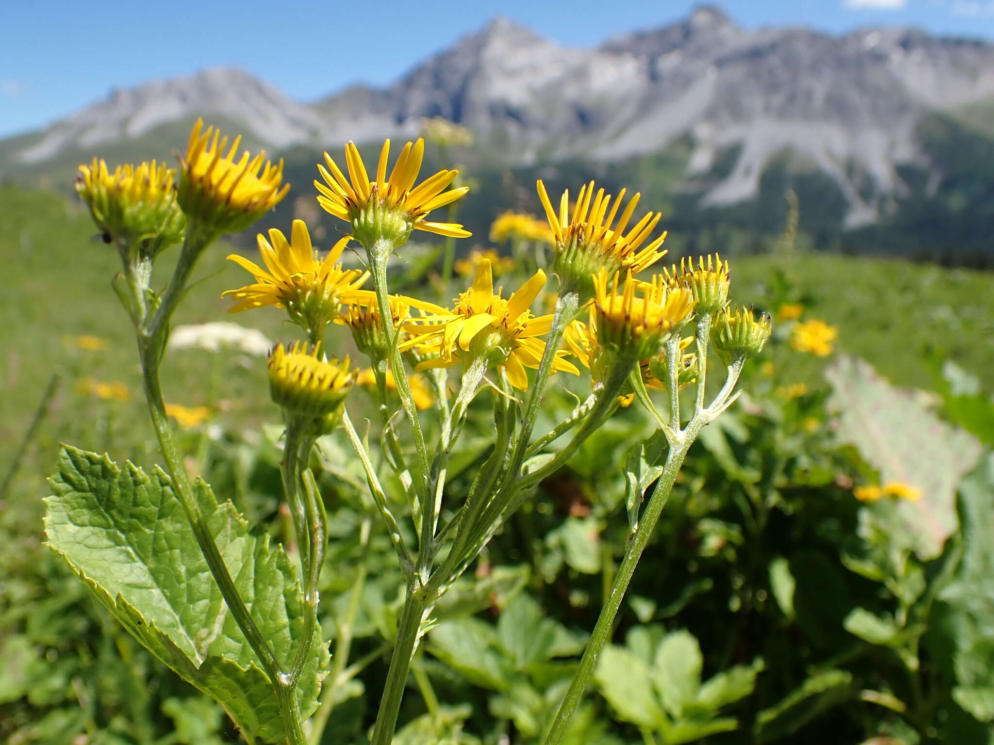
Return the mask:
M476 269L473 285L456 298L455 308L417 301L414 307L431 314L405 325L412 338L402 349L416 347L422 354L437 358L418 363L415 370L448 368L463 358L485 357L491 367L504 369L508 380L519 390L528 388L525 368L539 367L546 343L538 337L548 334L552 316L536 318L530 308L546 284L541 269L509 298L496 294L490 261L484 259ZM414 304L414 301L412 301ZM553 370L580 374L576 366L557 353Z

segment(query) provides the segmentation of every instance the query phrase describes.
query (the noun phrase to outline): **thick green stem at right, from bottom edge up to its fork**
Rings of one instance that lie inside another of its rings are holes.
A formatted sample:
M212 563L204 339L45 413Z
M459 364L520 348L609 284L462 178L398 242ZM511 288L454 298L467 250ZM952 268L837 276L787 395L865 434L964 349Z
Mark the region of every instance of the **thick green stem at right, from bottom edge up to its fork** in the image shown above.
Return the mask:
M702 423L700 421L692 421L688 425L687 431L683 433L679 440L679 445L670 449L662 476L656 482L656 488L652 492L652 497L649 498L645 514L642 516L642 520L639 522L634 536L625 549L624 558L618 567L614 583L611 585L610 595L608 595L606 602L600 610L597 623L593 627L593 634L590 636L590 641L587 643L586 649L583 650L583 657L580 659L580 668L574 674L570 688L566 692L566 698L563 699L559 712L556 714L556 720L553 722L553 726L544 740L545 745L558 745L566 735L570 720L573 718L573 713L580 704L583 690L596 667L600 652L603 650L604 645L610 641L611 632L614 628L614 617L621 607L621 601L624 599L625 592L628 589L628 583L635 573L635 566L638 564L645 546L649 543L649 538L652 536L652 531L656 527L659 516L662 515L663 508L666 507L670 492L673 490L673 484L676 482L677 474L680 472L680 466L683 465L687 450L690 449L690 445L697 437L701 426Z

